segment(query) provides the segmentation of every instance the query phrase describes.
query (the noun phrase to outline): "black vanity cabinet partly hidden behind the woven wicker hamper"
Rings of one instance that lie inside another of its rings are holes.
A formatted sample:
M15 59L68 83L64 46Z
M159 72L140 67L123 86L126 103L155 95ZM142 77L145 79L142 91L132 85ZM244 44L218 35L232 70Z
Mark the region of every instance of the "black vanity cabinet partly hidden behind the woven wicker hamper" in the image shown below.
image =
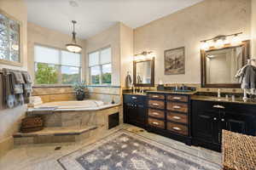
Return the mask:
M220 150L222 129L256 135L256 105L191 101L192 143Z

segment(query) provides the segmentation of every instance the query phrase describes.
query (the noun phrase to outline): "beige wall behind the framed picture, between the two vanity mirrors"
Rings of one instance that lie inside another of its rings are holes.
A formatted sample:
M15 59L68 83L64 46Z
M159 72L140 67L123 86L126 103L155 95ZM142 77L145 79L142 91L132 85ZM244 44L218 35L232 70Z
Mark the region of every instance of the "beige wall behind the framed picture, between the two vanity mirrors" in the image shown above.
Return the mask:
M201 82L200 41L242 31L251 37L251 0L205 0L134 31L134 52L154 50L155 83ZM164 51L185 47L185 74L164 75Z

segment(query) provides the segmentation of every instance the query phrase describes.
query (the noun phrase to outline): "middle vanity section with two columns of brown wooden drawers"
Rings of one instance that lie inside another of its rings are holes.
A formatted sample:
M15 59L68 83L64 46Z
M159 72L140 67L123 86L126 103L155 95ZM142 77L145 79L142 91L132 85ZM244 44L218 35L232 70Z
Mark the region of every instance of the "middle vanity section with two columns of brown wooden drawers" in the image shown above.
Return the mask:
M190 144L189 95L148 93L148 131Z

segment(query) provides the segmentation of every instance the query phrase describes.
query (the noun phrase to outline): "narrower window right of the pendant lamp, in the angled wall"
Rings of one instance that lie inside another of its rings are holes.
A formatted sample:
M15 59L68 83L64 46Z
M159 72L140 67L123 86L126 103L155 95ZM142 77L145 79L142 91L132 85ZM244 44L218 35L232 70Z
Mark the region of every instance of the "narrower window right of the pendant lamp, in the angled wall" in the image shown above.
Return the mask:
M89 54L90 84L111 84L111 48Z

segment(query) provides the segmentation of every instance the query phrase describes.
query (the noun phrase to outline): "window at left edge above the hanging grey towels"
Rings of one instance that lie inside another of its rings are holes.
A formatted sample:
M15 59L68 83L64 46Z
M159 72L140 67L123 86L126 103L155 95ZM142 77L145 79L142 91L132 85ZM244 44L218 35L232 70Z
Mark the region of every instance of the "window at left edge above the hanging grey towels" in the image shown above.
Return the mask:
M0 59L20 63L20 23L0 11ZM7 63L8 64L8 63Z

